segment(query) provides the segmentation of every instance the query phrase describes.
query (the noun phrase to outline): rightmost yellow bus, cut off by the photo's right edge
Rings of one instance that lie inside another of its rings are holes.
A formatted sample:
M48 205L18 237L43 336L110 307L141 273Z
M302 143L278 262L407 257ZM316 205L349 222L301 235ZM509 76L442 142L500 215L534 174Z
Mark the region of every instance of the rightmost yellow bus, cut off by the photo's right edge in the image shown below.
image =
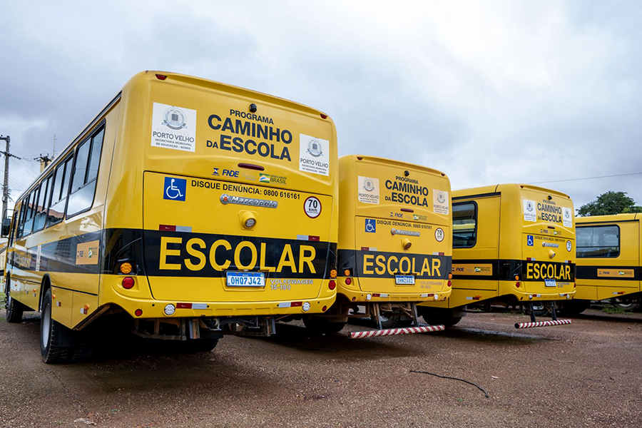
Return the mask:
M641 217L616 214L576 218L577 292L570 305L565 305L565 312L578 314L592 300L637 304L642 297Z

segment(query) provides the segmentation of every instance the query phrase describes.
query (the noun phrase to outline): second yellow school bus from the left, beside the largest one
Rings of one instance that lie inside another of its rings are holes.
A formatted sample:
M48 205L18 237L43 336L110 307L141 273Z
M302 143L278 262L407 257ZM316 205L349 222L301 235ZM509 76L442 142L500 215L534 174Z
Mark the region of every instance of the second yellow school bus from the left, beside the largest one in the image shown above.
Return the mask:
M310 317L307 327L337 332L350 316L370 316L379 330L410 325L417 302L447 300L452 215L444 173L342 156L339 199L337 302L323 317Z

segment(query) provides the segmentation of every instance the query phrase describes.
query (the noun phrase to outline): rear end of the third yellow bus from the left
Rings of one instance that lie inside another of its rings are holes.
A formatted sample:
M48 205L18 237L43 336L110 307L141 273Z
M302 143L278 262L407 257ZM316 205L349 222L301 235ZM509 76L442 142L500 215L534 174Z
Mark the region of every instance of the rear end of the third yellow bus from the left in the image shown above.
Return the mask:
M575 293L573 201L555 190L511 186L519 191L516 213L519 213L518 224L521 223L521 259L509 260L510 264L506 264L499 294L514 295L520 302L529 302L529 307L532 303L535 309L545 307L551 312L556 302L559 307L560 300L569 300ZM511 240L511 235L501 234L501 230L500 240ZM502 244L510 254L510 243L500 242L500 249Z

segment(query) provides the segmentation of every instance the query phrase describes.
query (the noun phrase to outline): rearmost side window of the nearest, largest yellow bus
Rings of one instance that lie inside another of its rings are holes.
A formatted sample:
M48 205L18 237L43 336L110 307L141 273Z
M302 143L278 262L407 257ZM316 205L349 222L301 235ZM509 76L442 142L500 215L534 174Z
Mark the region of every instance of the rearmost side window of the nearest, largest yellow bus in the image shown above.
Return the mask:
M79 146L76 151L67 217L91 208L93 195L96 192L96 178L98 178L104 133L105 130L102 128L91 140L87 140Z

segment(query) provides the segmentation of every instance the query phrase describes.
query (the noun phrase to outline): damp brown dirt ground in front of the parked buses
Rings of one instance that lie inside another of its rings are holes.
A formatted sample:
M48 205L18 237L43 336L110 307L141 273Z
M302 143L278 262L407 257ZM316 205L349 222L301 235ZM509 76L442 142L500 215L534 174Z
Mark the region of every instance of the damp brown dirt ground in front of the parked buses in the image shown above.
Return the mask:
M473 314L446 332L365 340L277 325L190 355L111 340L91 361L45 365L39 317L3 319L0 426L642 426L642 314L514 329L526 320Z

